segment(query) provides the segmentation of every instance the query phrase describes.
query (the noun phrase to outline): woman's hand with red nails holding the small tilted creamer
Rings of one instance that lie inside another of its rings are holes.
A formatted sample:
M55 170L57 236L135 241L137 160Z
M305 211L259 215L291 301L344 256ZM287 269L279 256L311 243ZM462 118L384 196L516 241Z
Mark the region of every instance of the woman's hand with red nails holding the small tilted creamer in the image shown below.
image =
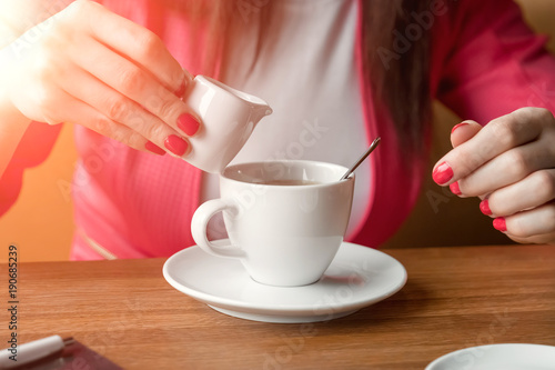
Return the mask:
M30 120L79 123L178 157L200 127L180 100L191 76L162 41L92 1L30 29L0 51L0 66L3 93Z

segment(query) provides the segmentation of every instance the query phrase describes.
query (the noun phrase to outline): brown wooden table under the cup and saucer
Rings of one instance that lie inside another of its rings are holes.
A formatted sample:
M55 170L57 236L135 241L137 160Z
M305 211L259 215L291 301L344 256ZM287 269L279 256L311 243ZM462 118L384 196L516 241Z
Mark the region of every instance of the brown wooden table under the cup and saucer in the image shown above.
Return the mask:
M219 313L167 283L165 259L23 262L18 337L71 336L125 369L410 370L465 347L555 346L554 247L385 252L408 272L400 292L311 324Z

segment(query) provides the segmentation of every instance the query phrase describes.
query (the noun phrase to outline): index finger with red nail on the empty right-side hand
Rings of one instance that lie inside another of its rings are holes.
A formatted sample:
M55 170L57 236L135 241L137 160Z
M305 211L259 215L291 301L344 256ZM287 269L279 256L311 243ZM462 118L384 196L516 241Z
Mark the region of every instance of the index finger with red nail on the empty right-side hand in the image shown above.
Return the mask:
M465 178L505 151L537 139L553 121L553 114L539 108L523 108L500 117L445 154L434 167L433 179L450 184Z

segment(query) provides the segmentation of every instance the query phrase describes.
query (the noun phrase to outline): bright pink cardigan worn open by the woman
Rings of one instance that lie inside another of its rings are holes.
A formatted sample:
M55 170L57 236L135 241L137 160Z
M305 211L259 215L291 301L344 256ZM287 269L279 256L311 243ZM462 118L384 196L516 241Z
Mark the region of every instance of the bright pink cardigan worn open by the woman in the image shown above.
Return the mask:
M195 73L183 47L188 26L182 16L164 13L154 1L103 2L157 32ZM357 32L355 58L361 66L361 21ZM555 111L555 60L544 49L545 38L531 32L512 1L461 1L456 13L434 18L432 32L432 94L464 119L486 123L525 106ZM360 89L369 140L381 136L382 144L371 157L374 183L367 218L351 241L376 248L408 216L422 177L430 174L423 158L412 159L411 170L404 170L391 122L375 119L367 81L361 80ZM0 214L16 201L23 170L44 160L59 131L32 123L0 179ZM80 161L72 196L82 232L119 258L165 257L194 244L190 220L199 206L200 170L170 156L129 149L80 126L75 142ZM101 257L77 233L72 258Z

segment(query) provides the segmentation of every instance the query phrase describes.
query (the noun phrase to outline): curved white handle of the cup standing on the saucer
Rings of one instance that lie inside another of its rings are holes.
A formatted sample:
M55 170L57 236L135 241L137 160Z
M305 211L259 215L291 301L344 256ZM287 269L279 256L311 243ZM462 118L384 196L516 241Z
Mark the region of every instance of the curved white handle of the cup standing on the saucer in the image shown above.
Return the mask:
M208 240L206 229L210 219L218 212L230 211L236 213L235 206L230 204L222 199L212 199L202 203L196 211L194 211L191 220L191 233L196 244L202 248L206 253L216 257L225 258L244 258L246 253L239 247L230 243L214 243Z

